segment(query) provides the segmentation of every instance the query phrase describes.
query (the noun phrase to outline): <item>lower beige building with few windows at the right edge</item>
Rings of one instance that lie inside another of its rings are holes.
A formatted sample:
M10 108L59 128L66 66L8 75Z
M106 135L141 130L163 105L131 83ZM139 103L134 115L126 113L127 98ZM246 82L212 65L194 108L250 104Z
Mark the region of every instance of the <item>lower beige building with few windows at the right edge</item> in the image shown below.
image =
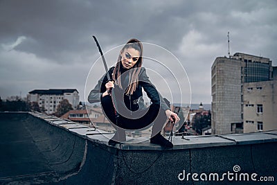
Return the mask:
M277 129L277 80L244 83L243 132Z

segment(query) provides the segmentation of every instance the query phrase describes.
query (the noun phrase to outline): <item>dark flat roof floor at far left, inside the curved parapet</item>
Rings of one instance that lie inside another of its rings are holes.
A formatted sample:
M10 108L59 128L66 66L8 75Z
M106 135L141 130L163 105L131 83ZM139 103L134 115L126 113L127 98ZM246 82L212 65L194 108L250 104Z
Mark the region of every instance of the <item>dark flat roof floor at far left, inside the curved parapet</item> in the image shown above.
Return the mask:
M0 150L0 178L54 173L35 146L24 119L0 118Z

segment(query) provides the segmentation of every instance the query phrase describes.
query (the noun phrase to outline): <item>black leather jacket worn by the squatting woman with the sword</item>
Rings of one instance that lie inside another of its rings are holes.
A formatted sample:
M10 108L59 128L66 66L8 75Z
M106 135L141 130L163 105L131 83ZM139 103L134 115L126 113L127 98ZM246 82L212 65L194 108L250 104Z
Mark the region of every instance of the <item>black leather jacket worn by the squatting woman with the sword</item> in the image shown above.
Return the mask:
M109 76L112 76L113 71L114 71L114 67L111 67L108 71ZM102 76L100 80L98 80L98 84L96 85L96 87L94 87L94 89L91 90L88 96L89 103L100 102L100 98L102 97L102 94L107 90L105 87L106 83L107 83L107 73L104 76ZM122 78L121 80L121 83L124 88L124 85L126 86L129 83L129 76L124 76L124 78ZM119 89L119 87L115 86L114 89ZM152 83L150 82L144 67L141 67L141 71L139 73L139 85L138 87L136 87L136 90L134 91L134 93L129 96L124 95L124 103L127 109L136 111L144 107L142 89L146 92L146 94L148 95L152 103L160 105L161 109L163 109L164 111L166 111L166 109L170 109L170 107L166 105L161 94L159 94L159 92L157 91L156 87L154 87L154 85L152 85Z

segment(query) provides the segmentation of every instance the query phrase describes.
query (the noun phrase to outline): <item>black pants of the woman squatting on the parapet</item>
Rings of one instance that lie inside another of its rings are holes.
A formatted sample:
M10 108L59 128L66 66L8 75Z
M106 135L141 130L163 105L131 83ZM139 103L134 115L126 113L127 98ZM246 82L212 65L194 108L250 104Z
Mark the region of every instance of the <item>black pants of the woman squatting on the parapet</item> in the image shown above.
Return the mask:
M166 123L166 112L160 109L159 105L151 104L148 112L141 118L132 119L119 116L118 121L116 121L116 114L114 112L111 96L102 97L101 103L102 109L109 121L126 130L138 130L153 123L152 136L154 136L161 132L163 124Z

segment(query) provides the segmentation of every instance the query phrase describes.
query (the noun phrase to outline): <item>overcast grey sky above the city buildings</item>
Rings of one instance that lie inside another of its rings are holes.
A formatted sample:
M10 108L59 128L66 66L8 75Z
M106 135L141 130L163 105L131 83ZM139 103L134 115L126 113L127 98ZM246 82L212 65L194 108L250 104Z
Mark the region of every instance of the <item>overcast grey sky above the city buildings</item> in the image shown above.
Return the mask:
M0 0L0 96L62 88L86 99L96 35L103 51L132 37L162 46L186 69L192 102L211 103L211 65L228 55L228 32L231 54L277 65L276 0Z

